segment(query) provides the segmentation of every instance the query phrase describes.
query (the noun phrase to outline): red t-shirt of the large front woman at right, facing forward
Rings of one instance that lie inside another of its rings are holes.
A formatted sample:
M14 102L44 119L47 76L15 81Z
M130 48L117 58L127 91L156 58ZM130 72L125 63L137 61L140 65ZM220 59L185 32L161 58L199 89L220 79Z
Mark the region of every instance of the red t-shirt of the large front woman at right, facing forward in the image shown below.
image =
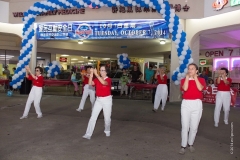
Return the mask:
M203 99L203 93L202 91L199 91L196 85L196 82L194 79L189 79L188 89L187 91L184 91L182 86L185 82L185 79L181 80L181 91L183 91L183 99L188 100L195 100L195 99ZM203 90L206 88L206 82L204 78L198 77L199 82L204 86Z

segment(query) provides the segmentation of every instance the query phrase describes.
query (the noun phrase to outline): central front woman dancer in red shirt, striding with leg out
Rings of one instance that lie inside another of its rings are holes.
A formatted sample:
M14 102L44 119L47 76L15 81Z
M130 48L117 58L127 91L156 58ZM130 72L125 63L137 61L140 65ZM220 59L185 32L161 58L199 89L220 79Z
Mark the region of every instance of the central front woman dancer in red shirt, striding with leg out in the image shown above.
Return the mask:
M96 69L91 69L89 78L89 85L96 86L97 99L94 104L91 118L88 122L86 134L83 138L91 139L95 124L99 113L103 109L104 121L105 121L105 134L107 137L110 136L110 125L111 125L111 113L112 113L112 95L111 95L111 79L107 77L107 71L105 66L100 67L100 75L98 75ZM93 73L97 77L94 80Z

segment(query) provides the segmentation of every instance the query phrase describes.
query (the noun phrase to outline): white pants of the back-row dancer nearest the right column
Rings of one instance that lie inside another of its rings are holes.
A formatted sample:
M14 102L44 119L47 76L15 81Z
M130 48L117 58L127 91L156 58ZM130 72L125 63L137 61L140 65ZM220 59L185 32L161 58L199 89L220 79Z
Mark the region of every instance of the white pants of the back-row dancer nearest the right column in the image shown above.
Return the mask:
M167 101L167 96L168 96L167 85L159 84L157 86L157 90L155 93L155 99L154 99L154 109L155 110L158 109L161 100L162 100L162 110L164 110L164 107L165 107L166 101Z

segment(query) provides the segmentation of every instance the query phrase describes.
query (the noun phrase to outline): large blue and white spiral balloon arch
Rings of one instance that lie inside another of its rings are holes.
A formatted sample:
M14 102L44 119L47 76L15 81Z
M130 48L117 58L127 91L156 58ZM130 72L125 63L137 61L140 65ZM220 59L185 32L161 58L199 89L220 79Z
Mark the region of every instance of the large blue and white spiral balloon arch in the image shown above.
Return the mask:
M20 87L24 78L24 67L29 64L32 52L32 43L34 36L34 22L36 17L41 13L53 11L55 9L67 8L85 8L92 5L93 8L114 7L114 6L138 6L156 9L161 13L168 23L169 31L172 33L179 57L180 66L173 72L172 80L176 85L186 75L187 66L193 62L191 58L191 50L188 46L186 33L182 30L179 23L179 17L175 14L175 10L171 9L167 0L47 0L34 3L33 6L24 12L23 17L23 40L22 49L20 51L19 63L17 70L13 76L11 85L13 88Z

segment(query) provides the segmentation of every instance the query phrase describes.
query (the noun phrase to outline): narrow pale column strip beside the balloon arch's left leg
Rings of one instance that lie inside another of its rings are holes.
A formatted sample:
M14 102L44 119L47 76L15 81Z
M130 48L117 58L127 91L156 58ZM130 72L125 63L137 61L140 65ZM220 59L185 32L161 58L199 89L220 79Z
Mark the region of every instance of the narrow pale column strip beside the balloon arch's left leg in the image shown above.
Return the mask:
M37 24L34 23L34 30L36 32L37 30ZM37 38L36 38L36 34L34 34L33 36L33 48L32 48L32 55L31 55L31 60L30 60L30 63L29 63L29 67L31 69L31 71L33 72L35 70L35 67L36 67L36 61L37 61Z

